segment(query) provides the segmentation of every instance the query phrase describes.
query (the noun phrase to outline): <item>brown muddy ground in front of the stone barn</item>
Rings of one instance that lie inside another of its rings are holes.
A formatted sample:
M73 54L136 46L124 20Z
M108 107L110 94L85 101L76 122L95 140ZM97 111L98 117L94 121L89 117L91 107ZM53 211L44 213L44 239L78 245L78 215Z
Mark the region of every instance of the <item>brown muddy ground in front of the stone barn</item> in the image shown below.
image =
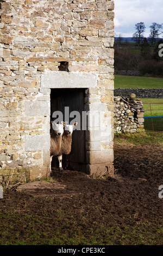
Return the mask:
M75 240L80 245L84 241L89 241L90 245L98 242L103 245L162 245L163 198L159 198L159 186L163 185L163 149L140 145L115 147L114 155L114 176L95 178L71 170L53 170L52 178L57 182L50 182L44 189L36 186L29 190L24 188L22 192L4 191L1 213L4 216L10 210L17 215L37 215L44 220L48 217L46 225L49 220L53 230L62 225L62 233L68 237L73 236L74 229L76 236L79 233L86 236L88 232L90 236L96 234L94 242L90 237ZM65 218L72 218L72 223L55 221L54 212L59 211ZM21 220L14 231L21 231L23 237ZM4 228L2 222L1 226ZM37 225L37 231L40 230L41 226ZM52 237L51 231L48 232ZM73 242L62 241L62 244Z

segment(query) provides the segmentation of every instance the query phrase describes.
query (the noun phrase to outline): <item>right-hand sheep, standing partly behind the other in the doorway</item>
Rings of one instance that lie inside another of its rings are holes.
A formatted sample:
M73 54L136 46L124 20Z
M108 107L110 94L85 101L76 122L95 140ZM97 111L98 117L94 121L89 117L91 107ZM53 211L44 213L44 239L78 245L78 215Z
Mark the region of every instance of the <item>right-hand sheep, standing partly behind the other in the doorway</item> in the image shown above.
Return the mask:
M67 122L64 123L65 130L64 134L62 135L62 141L61 141L61 150L58 155L58 161L59 161L59 169L63 170L62 168L62 155L68 155L71 152L71 145L72 145L72 132L73 127L77 126L77 122L73 123L73 125L67 125Z

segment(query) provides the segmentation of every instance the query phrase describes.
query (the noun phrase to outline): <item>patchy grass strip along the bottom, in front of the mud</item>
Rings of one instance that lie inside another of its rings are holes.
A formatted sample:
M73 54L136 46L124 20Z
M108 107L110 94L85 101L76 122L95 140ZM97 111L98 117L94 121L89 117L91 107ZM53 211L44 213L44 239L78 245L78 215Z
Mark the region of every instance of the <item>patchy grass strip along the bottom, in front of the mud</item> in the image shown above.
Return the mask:
M118 224L116 221L110 221L109 225L104 225L94 223L89 216L87 218L81 216L81 222L77 223L75 216L68 216L64 212L54 213L54 220L12 212L5 216L0 215L6 225L1 231L1 245L114 245L117 239L120 245L134 245L135 237L137 245L148 244L149 238L151 238L150 245L153 245L155 236L160 230L152 234L151 223L147 221L137 226L131 218L122 230L121 223ZM107 219L108 214L105 214L103 218ZM51 224L54 221L59 223L60 228L53 230ZM83 233L83 227L90 222L93 223L92 226ZM21 232L17 227L20 227ZM66 229L72 230L72 233L65 231Z

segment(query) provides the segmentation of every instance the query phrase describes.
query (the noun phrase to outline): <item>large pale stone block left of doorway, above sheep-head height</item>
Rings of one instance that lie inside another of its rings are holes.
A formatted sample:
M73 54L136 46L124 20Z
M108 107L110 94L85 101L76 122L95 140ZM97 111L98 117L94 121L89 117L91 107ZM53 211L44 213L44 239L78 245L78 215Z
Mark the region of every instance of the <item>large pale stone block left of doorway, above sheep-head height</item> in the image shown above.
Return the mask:
M51 113L51 106L49 101L25 101L25 110L27 115L47 116Z

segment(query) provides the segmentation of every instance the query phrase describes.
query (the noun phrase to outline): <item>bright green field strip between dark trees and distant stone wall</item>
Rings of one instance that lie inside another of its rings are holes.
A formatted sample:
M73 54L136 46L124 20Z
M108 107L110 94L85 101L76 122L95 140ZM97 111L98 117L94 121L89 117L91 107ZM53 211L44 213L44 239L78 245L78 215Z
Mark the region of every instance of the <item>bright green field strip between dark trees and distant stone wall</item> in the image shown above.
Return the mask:
M115 88L163 88L163 78L115 75Z

